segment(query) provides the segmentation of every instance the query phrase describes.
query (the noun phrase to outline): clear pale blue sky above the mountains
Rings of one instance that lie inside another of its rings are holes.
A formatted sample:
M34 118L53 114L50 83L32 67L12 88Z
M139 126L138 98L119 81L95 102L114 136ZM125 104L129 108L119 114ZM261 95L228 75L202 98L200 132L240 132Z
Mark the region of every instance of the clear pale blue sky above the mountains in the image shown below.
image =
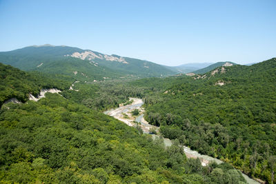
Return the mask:
M0 0L0 51L69 45L166 65L276 57L276 0Z

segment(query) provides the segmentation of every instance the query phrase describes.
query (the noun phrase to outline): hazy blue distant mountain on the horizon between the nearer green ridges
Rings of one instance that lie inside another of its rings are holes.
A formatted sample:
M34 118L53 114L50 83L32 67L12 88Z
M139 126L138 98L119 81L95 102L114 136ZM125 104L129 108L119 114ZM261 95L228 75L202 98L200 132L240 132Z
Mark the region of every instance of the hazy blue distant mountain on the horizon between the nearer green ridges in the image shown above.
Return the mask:
M199 70L201 68L205 68L208 65L211 65L213 63L186 63L183 65L178 65L178 66L166 66L172 71L175 71L177 73L188 73L188 72L193 72L195 70Z

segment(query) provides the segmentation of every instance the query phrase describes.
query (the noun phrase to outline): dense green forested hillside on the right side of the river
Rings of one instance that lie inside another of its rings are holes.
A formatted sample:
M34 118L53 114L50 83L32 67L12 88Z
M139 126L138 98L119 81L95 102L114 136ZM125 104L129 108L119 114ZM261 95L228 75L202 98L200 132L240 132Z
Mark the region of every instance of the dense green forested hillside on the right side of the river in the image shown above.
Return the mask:
M169 139L271 182L276 155L276 59L197 76L141 79L146 120ZM275 178L274 178L275 181Z

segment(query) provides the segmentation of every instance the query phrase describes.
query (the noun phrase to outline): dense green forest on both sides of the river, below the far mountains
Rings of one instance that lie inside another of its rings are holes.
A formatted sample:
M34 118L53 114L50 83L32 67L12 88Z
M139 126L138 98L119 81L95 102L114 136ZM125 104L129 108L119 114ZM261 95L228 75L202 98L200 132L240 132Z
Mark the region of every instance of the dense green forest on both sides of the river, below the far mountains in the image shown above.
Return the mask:
M245 182L234 166L271 183L276 167L275 66L276 59L270 59L192 77L80 79L69 90L77 80L72 76L1 64L1 104L14 97L26 102L29 93L42 88L58 88L62 96L48 94L38 102L1 108L0 181ZM146 120L175 139L172 147L101 113L128 97L144 99ZM226 163L202 167L199 160L186 159L179 144Z

